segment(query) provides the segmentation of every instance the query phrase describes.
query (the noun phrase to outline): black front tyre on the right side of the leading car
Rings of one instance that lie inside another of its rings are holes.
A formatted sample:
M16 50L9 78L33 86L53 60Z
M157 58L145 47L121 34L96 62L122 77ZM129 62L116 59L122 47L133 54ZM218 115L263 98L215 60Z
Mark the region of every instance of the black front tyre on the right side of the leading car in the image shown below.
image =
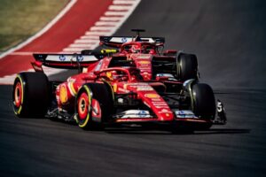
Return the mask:
M212 126L215 119L215 95L213 89L205 83L198 83L192 86L193 112L200 119L207 119L209 123L202 126L201 129L207 129Z

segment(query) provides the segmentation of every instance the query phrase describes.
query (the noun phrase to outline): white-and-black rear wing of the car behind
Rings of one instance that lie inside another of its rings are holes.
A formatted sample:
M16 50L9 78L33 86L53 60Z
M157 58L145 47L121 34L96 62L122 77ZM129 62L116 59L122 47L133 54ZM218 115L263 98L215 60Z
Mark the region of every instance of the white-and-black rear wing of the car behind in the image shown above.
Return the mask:
M99 36L100 45L110 47L121 47L125 42L150 42L156 45L165 43L164 37L132 37L132 36Z

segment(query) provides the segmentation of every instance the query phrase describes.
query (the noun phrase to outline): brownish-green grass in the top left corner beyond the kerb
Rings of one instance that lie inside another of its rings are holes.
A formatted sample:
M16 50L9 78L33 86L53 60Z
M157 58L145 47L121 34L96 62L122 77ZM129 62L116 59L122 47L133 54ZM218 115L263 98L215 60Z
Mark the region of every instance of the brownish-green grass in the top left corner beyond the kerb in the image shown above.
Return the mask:
M0 52L41 30L68 0L0 0Z

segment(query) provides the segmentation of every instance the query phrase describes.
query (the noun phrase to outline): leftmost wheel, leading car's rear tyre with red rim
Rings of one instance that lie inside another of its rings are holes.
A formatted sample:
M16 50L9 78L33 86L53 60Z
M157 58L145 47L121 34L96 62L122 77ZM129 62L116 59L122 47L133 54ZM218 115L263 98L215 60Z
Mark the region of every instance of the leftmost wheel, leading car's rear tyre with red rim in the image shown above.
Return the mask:
M12 101L18 117L44 117L49 97L49 81L44 73L19 73L15 78Z

